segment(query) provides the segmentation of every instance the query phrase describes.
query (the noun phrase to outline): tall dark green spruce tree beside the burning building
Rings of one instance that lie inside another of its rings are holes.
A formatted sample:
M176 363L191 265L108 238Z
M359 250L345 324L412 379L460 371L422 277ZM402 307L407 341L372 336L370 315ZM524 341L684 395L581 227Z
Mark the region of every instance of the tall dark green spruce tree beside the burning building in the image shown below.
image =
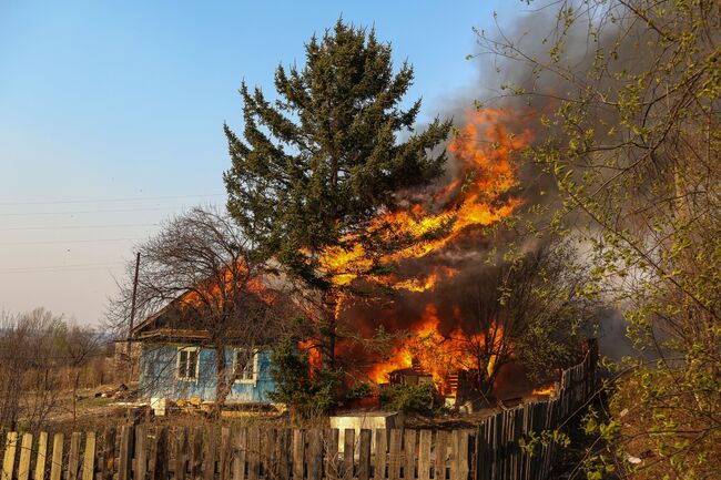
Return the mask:
M374 30L338 20L305 45L302 69L277 68L277 100L243 82L243 135L225 125L229 211L258 252L317 295L331 360L337 297L352 287L334 283L323 253L362 242L372 255L379 244L368 222L396 206L397 192L436 177L446 160L431 151L450 122L414 130L420 100L402 108L413 67L394 72L390 53Z

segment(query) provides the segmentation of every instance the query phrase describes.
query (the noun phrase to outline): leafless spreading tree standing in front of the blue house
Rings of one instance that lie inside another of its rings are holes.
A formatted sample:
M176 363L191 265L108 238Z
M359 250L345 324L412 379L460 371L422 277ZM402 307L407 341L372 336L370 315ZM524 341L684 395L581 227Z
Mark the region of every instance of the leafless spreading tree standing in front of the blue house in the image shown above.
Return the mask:
M163 319L169 335L204 333L199 341L215 351L220 412L242 367L280 335L278 319L287 307L282 282L254 261L235 224L212 210L193 208L170 219L139 251L138 317ZM128 328L133 269L134 262L111 302L110 318L121 331ZM231 346L241 348L229 365L224 353Z

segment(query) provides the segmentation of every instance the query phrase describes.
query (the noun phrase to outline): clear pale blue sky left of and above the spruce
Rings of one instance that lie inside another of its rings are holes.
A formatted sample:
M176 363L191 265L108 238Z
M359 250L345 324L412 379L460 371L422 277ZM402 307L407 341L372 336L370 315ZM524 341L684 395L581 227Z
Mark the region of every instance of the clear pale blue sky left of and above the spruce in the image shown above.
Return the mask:
M413 63L424 123L477 82L471 28L524 6L0 0L0 312L102 325L135 244L224 205L222 126L242 131L241 81L272 96L276 67L302 64L341 16Z

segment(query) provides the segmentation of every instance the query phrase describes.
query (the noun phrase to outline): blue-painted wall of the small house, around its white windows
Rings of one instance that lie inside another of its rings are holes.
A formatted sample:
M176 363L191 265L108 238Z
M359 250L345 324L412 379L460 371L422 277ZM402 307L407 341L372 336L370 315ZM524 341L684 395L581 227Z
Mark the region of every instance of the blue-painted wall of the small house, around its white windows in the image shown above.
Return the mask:
M215 350L200 349L199 374L196 380L177 378L179 347L193 345L152 345L144 344L140 360L139 388L142 397L162 397L169 399L189 399L200 397L203 400L215 400L216 369ZM225 350L225 362L229 368L233 365L233 349ZM255 382L233 384L227 402L270 404L268 392L275 389L271 377L271 353L261 350L257 354L257 378Z

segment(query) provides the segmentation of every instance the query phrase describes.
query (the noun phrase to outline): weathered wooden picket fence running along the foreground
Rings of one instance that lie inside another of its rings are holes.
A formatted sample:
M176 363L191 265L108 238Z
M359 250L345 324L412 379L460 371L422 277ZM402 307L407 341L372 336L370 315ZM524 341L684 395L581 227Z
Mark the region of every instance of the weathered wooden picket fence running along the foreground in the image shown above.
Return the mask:
M473 430L124 426L69 439L9 432L0 480L540 480L556 448L537 445L529 455L519 439L572 415L592 394L595 370L591 349L563 371L556 398L500 412Z

